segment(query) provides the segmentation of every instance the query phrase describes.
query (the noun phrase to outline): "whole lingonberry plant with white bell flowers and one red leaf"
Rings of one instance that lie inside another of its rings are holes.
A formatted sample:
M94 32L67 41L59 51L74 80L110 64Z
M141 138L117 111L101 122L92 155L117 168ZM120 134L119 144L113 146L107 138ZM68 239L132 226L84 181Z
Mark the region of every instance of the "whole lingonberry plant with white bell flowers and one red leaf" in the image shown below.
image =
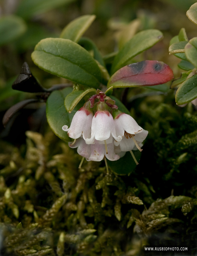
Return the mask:
M12 87L26 92L42 92L37 101L46 101L47 121L58 137L65 141L74 139L69 146L77 148L79 155L87 161L122 158L121 170L113 166L113 171L126 174L138 164L140 154L135 149L142 151L148 131L130 116L124 102L112 96L113 89L164 84L173 78L173 72L157 60L135 63L136 55L163 38L157 29L137 33L119 52L113 53L113 58L111 54L104 61L96 45L81 37L94 19L95 15L84 15L73 20L63 29L60 38L41 40L32 53L33 62L38 67L67 78L73 83L73 89L62 89L61 85L44 89L34 79L27 64ZM106 60L110 65L106 66ZM5 123L12 113L31 102L31 99L26 100L12 107L4 117ZM130 156L125 155L127 151ZM108 173L107 162L106 168Z

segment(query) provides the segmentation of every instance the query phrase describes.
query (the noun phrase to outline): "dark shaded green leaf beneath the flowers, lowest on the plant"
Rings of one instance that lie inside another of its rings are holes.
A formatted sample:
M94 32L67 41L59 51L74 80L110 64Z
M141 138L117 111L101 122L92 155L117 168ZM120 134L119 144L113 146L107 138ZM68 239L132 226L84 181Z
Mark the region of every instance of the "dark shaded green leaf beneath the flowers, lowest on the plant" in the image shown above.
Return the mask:
M139 150L133 150L136 160L139 162L141 152ZM117 161L107 161L107 164L110 166L111 170L117 174L129 174L133 172L136 168L135 161L131 156L130 152L126 152L125 156L120 157Z

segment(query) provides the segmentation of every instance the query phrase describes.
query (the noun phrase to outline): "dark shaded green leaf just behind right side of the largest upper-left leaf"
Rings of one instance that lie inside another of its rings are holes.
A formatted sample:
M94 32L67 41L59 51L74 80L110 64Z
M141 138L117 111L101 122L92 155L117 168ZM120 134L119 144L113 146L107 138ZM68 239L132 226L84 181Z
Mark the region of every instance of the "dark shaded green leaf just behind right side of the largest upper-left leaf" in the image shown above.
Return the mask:
M81 45L88 52L92 53L92 57L105 67L105 62L101 56L101 53L99 52L96 44L94 44L91 39L87 37L82 37L78 41L78 44Z

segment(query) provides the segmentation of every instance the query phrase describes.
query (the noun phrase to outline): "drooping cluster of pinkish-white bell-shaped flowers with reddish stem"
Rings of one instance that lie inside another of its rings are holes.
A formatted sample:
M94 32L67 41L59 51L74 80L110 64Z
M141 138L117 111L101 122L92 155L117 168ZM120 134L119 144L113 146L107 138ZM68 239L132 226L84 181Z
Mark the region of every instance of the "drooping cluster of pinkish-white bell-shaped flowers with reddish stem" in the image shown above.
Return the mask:
M77 148L87 161L115 161L126 151L142 151L142 141L148 134L100 90L75 113L70 127L64 125L62 129L74 139L69 147Z

